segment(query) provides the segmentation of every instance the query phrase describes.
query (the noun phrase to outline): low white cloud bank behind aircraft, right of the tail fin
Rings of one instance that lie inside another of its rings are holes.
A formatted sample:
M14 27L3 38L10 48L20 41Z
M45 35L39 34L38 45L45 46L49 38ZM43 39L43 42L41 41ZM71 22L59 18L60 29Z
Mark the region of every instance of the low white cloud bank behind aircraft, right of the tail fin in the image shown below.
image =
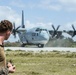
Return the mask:
M33 27L43 27L43 28L46 28L48 30L53 30L52 24L53 24L52 22L48 22L48 23L43 23L43 22L31 23L29 20L25 21L26 29L31 29ZM61 30L61 31L63 31L63 30L66 30L66 31L73 30L72 24L76 28L76 21L74 21L74 22L66 23L64 25L60 25L59 30ZM55 26L55 28L57 28L57 25L54 25L54 26Z

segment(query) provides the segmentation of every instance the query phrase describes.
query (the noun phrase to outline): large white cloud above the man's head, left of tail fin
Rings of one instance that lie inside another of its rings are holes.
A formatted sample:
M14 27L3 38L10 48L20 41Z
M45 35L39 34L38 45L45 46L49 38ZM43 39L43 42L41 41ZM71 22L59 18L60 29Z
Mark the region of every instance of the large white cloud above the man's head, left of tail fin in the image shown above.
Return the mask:
M16 25L18 26L21 21L19 15L10 7L0 6L0 20L4 20L4 19L10 20L11 22L15 22Z

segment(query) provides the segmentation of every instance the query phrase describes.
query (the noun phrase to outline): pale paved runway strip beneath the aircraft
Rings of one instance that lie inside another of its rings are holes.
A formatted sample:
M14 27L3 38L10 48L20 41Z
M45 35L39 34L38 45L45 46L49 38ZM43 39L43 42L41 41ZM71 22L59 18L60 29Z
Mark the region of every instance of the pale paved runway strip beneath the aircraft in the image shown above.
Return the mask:
M25 50L25 51L70 51L70 52L76 52L76 48L71 47L44 47L44 48L27 48L27 47L5 47L5 50L11 49L11 50Z

